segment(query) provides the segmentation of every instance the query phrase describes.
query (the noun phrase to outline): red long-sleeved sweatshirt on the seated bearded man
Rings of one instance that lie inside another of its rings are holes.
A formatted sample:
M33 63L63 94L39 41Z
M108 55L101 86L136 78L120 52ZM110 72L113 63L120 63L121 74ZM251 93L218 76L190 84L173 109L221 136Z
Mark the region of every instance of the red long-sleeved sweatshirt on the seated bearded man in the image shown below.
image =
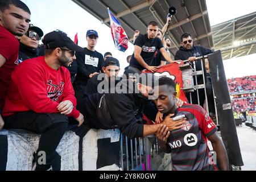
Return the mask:
M16 112L35 111L36 113L60 113L57 105L69 100L76 106L75 92L67 68L52 69L44 56L22 62L13 72L2 115ZM79 117L74 107L71 114Z

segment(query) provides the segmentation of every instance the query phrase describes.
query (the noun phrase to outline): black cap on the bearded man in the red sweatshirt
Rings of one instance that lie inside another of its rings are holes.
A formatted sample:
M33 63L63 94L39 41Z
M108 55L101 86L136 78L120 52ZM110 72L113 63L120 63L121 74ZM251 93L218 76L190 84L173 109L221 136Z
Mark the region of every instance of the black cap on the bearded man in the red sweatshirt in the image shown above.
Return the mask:
M42 40L46 49L55 49L58 47L67 47L72 51L83 51L84 49L77 46L65 32L60 30L52 31L46 34Z

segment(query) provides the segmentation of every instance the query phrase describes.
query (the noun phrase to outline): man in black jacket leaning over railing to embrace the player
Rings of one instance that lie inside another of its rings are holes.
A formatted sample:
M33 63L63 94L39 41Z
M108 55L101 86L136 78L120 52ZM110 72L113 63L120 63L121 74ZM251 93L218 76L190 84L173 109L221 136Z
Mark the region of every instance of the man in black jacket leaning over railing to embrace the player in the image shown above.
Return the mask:
M122 92L92 94L77 105L77 109L86 115L85 125L94 129L118 128L129 138L146 137L155 134L160 124L142 125L138 123L137 114L143 113L152 121L155 120L158 110L148 98L154 85L155 76L151 73L142 73L137 81L122 80ZM131 87L128 87L131 86ZM126 87L127 86L127 87ZM126 90L128 89L128 90ZM173 122L170 116L163 120L163 125L170 131L179 129L184 119Z

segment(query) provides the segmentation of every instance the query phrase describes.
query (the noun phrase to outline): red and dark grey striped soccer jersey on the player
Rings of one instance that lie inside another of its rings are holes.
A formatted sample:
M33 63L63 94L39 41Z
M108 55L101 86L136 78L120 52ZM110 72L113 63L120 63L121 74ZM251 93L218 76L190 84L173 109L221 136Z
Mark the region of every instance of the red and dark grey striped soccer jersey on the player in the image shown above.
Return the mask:
M217 170L212 160L209 160L207 145L207 137L217 131L214 122L199 105L183 105L177 109L176 115L181 114L185 114L187 121L181 129L171 131L167 140L173 170Z

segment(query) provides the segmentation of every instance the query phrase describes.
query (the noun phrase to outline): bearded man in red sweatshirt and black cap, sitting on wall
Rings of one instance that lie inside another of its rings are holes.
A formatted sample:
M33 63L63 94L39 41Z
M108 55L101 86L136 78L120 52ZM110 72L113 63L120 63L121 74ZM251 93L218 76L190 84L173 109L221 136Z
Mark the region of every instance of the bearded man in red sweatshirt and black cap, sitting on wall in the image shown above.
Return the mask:
M44 36L46 56L26 60L13 75L3 117L6 129L24 129L41 134L36 151L36 170L52 169L55 150L68 128L68 117L84 122L76 110L76 98L67 68L74 59L77 46L61 31ZM40 151L46 153L46 164L39 164Z

